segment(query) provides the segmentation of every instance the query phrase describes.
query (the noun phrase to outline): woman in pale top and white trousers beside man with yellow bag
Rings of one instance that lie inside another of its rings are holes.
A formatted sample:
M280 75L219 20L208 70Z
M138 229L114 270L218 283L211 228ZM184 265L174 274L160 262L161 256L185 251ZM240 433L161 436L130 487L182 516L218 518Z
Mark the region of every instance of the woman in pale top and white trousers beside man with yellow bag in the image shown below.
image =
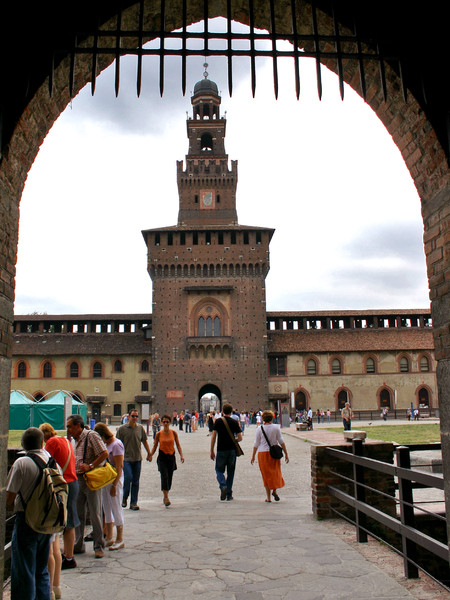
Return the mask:
M97 423L94 427L109 452L108 460L116 468L115 480L102 488L103 514L105 516L105 547L110 550L121 550L125 547L123 541L123 456L124 445L104 423ZM116 526L116 539L114 540L114 525Z

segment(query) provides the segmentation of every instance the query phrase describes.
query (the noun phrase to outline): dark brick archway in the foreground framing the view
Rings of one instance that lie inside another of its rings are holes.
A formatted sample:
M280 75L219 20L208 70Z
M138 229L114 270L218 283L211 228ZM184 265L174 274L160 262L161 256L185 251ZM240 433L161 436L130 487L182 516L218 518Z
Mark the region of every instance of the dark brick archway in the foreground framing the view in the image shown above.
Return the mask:
M108 3L105 3L105 6L106 4ZM161 17L159 14L160 7L153 8L153 3L150 3L149 0L145 0L144 4L149 9L149 19L159 22ZM277 6L276 28L278 33L290 32L292 24L287 17L285 18L283 12L287 10L286 7L289 3L280 1L275 2L275 4ZM127 6L121 14L121 26L125 29L136 20L138 3L124 2L123 5ZM310 3L305 0L300 0L296 5L300 16L311 8ZM116 5L114 4L114 6ZM204 16L203 8L203 3L191 2L188 14L189 21L201 20ZM385 9L383 5L383 9L380 10ZM376 11L374 7L372 7L372 10ZM390 8L390 10L393 9ZM182 24L180 12L178 4L167 8L165 23L168 30L175 29ZM53 16L56 20L56 15ZM215 2L214 14L209 16L226 16L226 3ZM378 16L381 17L380 21L383 20L382 17L386 21L389 20L388 14ZM91 17L92 15L87 14L85 16L86 21L82 21L80 27ZM248 23L248 2L246 0L234 2L231 17L237 21ZM21 18L31 20L33 15L28 15L25 11ZM337 18L339 20L339 15L337 15ZM111 19L111 29L113 30L117 23L114 8L103 7L103 20L107 21L108 19ZM334 23L331 14L320 13L320 21L325 31L333 32ZM346 23L341 24L345 29ZM269 3L258 7L254 25L262 29L269 28ZM23 43L23 40L20 40L20 42ZM48 43L51 43L51 41L48 40ZM49 82L44 79L45 76L42 76L45 69L44 65L39 63L38 54L36 54L35 60L30 63L30 73L28 73L27 66L27 86L24 86L24 88L28 89L29 87L31 91L23 92L26 101L23 101L21 114L18 114L15 118L14 127L10 126L11 135L8 138L7 147L2 148L3 156L0 163L0 397L2 399L0 410L3 416L6 415L8 410L7 402L10 389L14 277L20 197L28 171L45 135L70 101L69 87L71 84L69 84L69 81L73 80L73 90L76 94L90 81L92 72L90 57L86 55L78 57L76 76L74 78L70 77L72 73L71 60L68 55L63 56L54 72L54 94L49 97ZM113 55L110 58L99 58L97 72L108 66L113 58ZM343 81L346 81L358 93L360 92L354 64L345 61L343 64L341 62L337 63L332 59L325 60L324 64L334 71L340 71ZM421 199L425 253L432 301L435 356L438 361L439 403L441 407L445 408L445 410L441 410L441 432L444 474L447 486L446 497L447 505L450 505L450 483L448 483L450 481L450 416L448 415L448 406L450 406L450 344L448 336L450 324L450 289L448 288L448 273L450 270L448 260L450 255L450 241L448 239L449 166L445 150L439 141L433 123L429 121L426 111L415 100L412 93L407 95L406 100L402 97L400 92L402 83L396 72L386 67L386 83L393 90L393 94L387 100L383 97L377 68L373 66L372 69L367 69L366 81L367 102L392 135L394 142L403 155ZM407 84L408 82L406 82L406 86ZM8 419L3 418L1 422L3 424L0 432L3 444L1 466L3 467L2 473L5 473ZM3 483L4 480L0 481L2 487L4 487ZM0 506L4 506L4 502L1 502ZM4 512L0 512L1 523L4 522L3 516Z

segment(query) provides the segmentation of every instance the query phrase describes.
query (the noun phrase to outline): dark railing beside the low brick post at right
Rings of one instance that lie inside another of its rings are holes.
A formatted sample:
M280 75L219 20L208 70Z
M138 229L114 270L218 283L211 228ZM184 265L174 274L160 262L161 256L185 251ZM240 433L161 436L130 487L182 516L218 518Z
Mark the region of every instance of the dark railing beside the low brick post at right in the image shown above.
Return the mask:
M440 445L432 444L431 447L436 449ZM415 489L427 488L442 492L444 490L442 475L411 469L410 450L424 450L425 448L427 448L425 445L398 446L394 450L396 465L362 456L362 440L353 440L352 453L336 448L327 448L326 454L330 458L343 461L353 467L353 475L350 477L337 470L332 470L331 474L334 476L335 481L340 481L344 485L339 487L339 484L330 484L327 486L327 490L340 503L354 510L354 518L351 518L348 512L344 514L345 508L339 510L331 506L331 510L336 515L355 525L358 542L367 542L368 535L370 535L387 543L395 552L402 555L406 577L418 577L419 569L421 569L450 591L447 578L445 576L440 578L436 574L430 573L418 557L420 549L423 549L445 561L447 566L450 558L447 540L444 543L444 541L436 539L418 528L419 516L423 515L427 519L433 519L434 522L440 521L444 525L442 529L446 530L445 503L443 500L431 501L444 504L442 512L433 512L424 508L426 502L416 502L414 499ZM367 485L370 471L392 478L394 482L393 489L397 492L390 495ZM370 504L366 501L367 492L371 494L372 500L373 494L380 495L378 506L374 506L373 501ZM384 504L386 508L383 510ZM389 510L389 507L391 510ZM394 510L392 510L393 507L395 507ZM375 527L373 526L374 523L376 523ZM378 534L377 532L382 533ZM401 543L390 543L389 540L392 541L394 537L399 538Z

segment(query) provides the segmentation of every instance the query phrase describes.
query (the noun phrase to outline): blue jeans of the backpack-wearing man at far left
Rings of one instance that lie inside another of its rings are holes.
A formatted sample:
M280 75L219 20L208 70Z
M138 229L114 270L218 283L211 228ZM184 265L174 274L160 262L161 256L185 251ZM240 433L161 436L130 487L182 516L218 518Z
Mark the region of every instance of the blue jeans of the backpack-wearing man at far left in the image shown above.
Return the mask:
M11 543L11 600L48 600L50 576L47 563L51 535L37 533L16 514Z

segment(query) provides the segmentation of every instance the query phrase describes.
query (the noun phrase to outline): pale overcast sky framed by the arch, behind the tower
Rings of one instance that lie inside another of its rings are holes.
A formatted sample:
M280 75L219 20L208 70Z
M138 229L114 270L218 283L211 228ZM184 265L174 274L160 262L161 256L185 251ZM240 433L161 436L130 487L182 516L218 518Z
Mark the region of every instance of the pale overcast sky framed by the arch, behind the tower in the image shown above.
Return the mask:
M291 61L258 63L256 99L247 61L235 61L233 97L226 64L208 60L227 112L226 150L238 160L240 224L276 229L266 280L268 310L429 306L420 201L400 152L348 86L301 61L300 101ZM51 129L21 203L15 313L151 312L142 230L175 225L176 161L188 150L186 111L203 77L168 59L165 92L158 60L145 66L136 97L136 60L121 61L85 88Z

